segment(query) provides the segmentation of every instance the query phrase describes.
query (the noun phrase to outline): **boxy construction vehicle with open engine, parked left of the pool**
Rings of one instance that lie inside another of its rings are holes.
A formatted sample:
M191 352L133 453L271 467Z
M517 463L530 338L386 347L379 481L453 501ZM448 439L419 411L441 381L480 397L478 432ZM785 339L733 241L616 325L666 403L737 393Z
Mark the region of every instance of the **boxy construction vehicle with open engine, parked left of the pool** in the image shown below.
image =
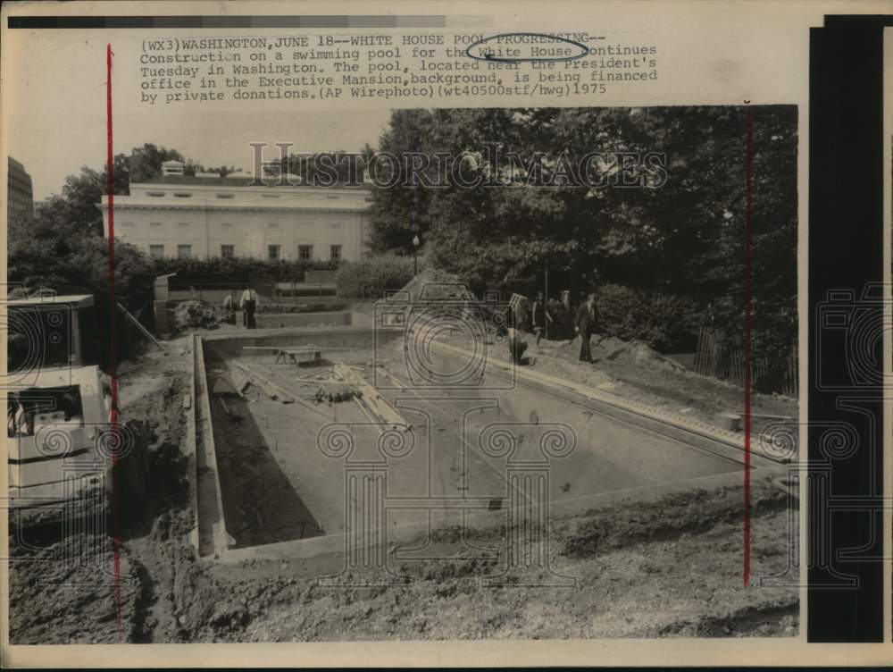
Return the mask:
M110 379L98 364L93 297L20 298L6 306L13 520L71 522L104 517L118 501L136 504L146 491L145 433L113 413ZM115 498L113 489L126 497Z

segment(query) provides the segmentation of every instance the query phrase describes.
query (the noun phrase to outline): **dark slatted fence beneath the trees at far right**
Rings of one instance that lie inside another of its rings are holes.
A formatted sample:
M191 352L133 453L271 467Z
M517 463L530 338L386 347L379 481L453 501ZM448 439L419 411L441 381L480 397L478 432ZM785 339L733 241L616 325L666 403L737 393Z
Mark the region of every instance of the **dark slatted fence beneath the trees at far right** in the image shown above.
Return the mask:
M756 391L797 397L799 362L796 347L792 347L789 355L781 360L760 356L753 350L751 353L750 380ZM730 341L720 330L701 327L697 336L695 371L744 385L743 345Z

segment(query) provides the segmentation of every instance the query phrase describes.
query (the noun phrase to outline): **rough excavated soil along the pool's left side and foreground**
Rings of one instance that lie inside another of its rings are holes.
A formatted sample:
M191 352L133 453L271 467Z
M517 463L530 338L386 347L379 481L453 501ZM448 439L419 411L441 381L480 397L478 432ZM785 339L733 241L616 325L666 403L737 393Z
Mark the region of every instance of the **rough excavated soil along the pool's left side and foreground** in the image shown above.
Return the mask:
M125 416L148 424L153 487L144 519L119 530L120 583L107 537L73 540L87 550L70 551L65 562L58 559L72 540L58 532L29 538L27 546L11 540L13 643L797 634L797 589L761 587L761 578L784 575L797 535L789 526L796 511L792 517L787 493L770 480L753 486L747 587L741 487L554 517L545 542L549 569L516 570L496 586L484 581L495 578L497 562L476 557L451 528L432 540L438 559L395 561L396 581L375 587L354 584L377 575L345 575L341 587L319 584L320 575L342 567L338 554L238 565L196 559L182 403L187 343L172 341L169 355L149 353L121 372ZM471 538L498 547L512 532L479 528ZM572 586L531 585L552 574Z

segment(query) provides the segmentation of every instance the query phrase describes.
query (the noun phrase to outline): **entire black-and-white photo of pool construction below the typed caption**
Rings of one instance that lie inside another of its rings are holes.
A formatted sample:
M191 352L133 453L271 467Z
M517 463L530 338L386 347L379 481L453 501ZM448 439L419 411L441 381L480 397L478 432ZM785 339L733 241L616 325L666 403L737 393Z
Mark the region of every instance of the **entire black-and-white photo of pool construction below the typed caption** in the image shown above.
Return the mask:
M12 643L797 636L796 105L100 107L10 117Z

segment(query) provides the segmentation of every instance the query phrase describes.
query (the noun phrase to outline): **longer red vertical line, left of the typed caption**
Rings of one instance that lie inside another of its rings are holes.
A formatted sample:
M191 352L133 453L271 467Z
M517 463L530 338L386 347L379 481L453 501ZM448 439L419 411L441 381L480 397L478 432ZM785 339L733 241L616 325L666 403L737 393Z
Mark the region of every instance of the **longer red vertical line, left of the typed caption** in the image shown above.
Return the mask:
M118 630L121 631L121 539L118 536L118 371L115 349L115 299L114 299L114 154L112 145L112 45L105 48L105 129L106 138L106 168L108 178L108 206L109 206L109 378L112 388L112 408L109 413L110 435L109 443L112 446L112 534L114 549L114 588L115 605L118 611Z

